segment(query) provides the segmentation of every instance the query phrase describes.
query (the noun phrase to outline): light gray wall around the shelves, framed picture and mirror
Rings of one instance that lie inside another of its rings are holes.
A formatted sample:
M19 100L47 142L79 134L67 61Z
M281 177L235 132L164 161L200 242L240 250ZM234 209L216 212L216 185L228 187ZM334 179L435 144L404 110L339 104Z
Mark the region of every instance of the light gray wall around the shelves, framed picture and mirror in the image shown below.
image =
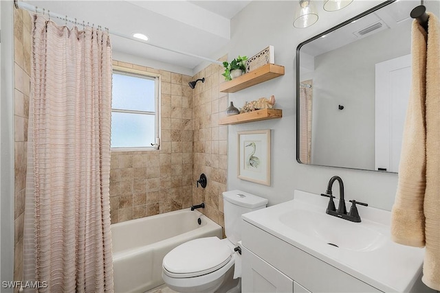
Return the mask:
M230 94L230 101L242 106L245 101L275 95L276 108L283 118L229 126L228 189L241 189L277 204L293 198L294 189L320 194L331 176L344 180L346 198L368 202L373 207L391 210L397 187L397 174L318 167L296 163L296 91L295 51L299 43L338 25L379 1L353 1L338 12L320 8L319 20L311 27L293 27L295 1L253 1L232 19L228 58L253 56L267 47L275 47L275 63L285 66L285 75ZM320 6L320 5L317 5ZM272 129L272 186L267 187L237 178L237 131ZM336 194L338 191L336 191ZM324 207L323 207L324 208Z

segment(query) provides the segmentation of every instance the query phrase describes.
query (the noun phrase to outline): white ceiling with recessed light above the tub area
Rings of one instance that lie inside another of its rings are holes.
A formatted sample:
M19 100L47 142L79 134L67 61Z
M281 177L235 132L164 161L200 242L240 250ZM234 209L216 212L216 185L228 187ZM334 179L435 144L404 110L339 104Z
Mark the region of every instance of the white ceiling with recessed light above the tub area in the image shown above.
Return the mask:
M94 23L126 36L141 32L153 45L204 57L215 57L214 54L228 43L230 19L251 1L25 0L46 11L76 18L78 23ZM113 51L186 69L194 69L203 61L120 36L111 36L111 41Z

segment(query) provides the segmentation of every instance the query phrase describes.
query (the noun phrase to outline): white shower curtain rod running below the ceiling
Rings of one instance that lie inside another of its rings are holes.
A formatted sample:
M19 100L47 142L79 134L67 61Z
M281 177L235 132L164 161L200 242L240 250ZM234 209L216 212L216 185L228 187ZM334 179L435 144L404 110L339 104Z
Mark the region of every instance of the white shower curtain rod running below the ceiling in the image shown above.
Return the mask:
M22 9L28 10L30 12L41 13L41 14L47 13L47 16L49 17L49 19L51 17L54 17L54 18L60 19L62 21L66 21L66 22L69 21L69 23L74 23L75 25L81 25L81 24L85 25L84 21L83 21L83 23L80 23L76 19L72 19L70 17L67 17L67 15L64 16L64 15L61 15L61 14L58 14L58 13L50 12L50 10L45 10L44 8L38 8L38 7L34 6L34 5L30 5L30 4L25 3L23 1L14 0L14 5L15 5L15 8L17 8L17 9L18 8L22 8ZM87 23L87 25L88 24L89 23ZM218 61L218 60L214 60L214 59L211 59L211 58L199 56L199 55L188 53L188 52L184 52L184 51L179 51L179 50L169 49L169 48L158 46L158 45L153 45L151 43L146 43L146 41L144 41L144 40L140 40L140 39L134 38L132 36L126 36L124 34L120 34L119 32L113 32L113 31L109 30L109 28L106 28L106 27L104 27L104 28L107 29L107 32L109 34L112 34L113 36L119 36L120 38L126 38L127 40L134 40L137 43L142 43L142 44L145 44L145 45L148 45L148 46L151 46L151 47L156 47L156 48L164 49L166 51L171 51L171 52L174 52L174 53L177 53L177 54L186 55L186 56L190 56L190 57L193 57L193 58L198 58L198 59L201 59L201 60L205 60L205 61L208 61L208 62L211 62L211 63L214 63L214 64L223 65L223 63Z

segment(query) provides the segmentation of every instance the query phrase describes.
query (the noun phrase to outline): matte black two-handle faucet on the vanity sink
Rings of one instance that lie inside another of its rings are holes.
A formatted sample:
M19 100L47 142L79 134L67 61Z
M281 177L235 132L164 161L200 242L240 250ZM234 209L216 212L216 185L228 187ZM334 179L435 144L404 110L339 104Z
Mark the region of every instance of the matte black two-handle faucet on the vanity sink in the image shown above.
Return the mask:
M331 187L333 187L333 183L338 180L339 183L339 206L338 211L336 211L335 203L333 202L333 193L331 191ZM361 222L360 215L358 213L358 208L356 207L356 204L361 204L363 206L368 206L368 204L364 202L358 202L356 200L350 200L351 202L351 208L350 212L347 214L347 209L345 207L345 200L344 200L344 183L342 182L342 179L340 176L333 176L329 180L329 185L327 185L327 191L325 191L325 194L321 194L321 196L327 196L330 198L329 204L327 205L327 210L325 213L328 213L329 215L334 215L335 217L342 218L344 220L349 220L351 222Z

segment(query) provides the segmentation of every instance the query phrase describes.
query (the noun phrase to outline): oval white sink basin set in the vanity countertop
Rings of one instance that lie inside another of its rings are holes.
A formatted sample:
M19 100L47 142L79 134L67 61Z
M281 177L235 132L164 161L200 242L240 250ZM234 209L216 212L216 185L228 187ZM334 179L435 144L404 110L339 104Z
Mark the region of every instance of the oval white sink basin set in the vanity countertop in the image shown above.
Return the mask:
M371 251L386 242L385 236L371 227L331 217L326 213L293 209L280 215L289 228L334 247L353 251Z

